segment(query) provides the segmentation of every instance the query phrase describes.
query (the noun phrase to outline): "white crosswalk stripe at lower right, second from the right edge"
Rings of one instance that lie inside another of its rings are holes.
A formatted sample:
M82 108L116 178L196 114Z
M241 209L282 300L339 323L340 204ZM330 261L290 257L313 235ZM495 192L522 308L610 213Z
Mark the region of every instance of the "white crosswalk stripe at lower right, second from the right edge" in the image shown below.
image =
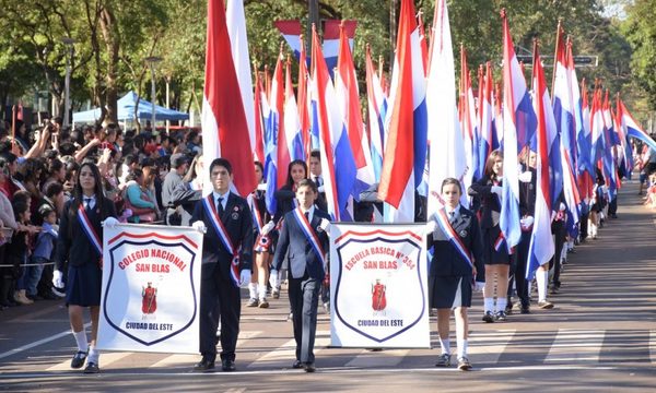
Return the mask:
M544 362L598 362L606 331L559 329Z

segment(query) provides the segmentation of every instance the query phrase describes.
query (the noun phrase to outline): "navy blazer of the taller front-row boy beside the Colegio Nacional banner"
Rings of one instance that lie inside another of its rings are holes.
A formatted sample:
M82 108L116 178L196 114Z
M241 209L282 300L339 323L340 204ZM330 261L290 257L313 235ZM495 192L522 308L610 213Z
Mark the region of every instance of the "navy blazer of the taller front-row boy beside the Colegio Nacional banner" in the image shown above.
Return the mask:
M207 198L207 196L206 196ZM203 200L196 203L191 223L202 221L208 228L202 240L202 264L218 264L221 275L230 278L230 267L233 255L227 252L219 234L214 229L212 219L203 206ZM236 249L239 251L239 271L251 269L253 260L253 216L246 200L233 192L229 193L225 209L220 217L227 236Z

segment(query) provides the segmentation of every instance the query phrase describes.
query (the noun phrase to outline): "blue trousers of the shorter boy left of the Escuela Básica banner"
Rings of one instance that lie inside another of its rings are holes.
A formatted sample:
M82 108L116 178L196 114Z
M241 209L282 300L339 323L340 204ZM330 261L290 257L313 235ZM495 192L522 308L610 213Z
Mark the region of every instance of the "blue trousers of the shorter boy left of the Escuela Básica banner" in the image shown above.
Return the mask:
M290 306L296 341L296 360L314 362L314 342L317 334L317 305L321 281L305 274L302 278L290 277Z

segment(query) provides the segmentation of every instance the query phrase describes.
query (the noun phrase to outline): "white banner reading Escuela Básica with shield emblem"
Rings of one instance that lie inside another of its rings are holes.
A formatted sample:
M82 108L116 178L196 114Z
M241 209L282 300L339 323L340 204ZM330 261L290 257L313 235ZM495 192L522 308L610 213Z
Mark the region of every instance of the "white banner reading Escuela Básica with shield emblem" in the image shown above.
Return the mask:
M422 224L330 226L331 346L429 348Z

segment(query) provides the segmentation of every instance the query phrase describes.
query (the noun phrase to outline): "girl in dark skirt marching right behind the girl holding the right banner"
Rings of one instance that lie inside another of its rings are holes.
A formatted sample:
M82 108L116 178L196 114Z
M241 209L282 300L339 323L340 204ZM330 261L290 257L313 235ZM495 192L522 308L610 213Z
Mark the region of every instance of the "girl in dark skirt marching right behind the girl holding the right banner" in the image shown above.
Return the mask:
M505 321L511 255L499 226L503 180L503 154L490 153L483 178L471 184L469 195L481 204L481 231L485 258L484 322ZM496 284L495 284L496 282ZM496 290L496 308L494 295Z

